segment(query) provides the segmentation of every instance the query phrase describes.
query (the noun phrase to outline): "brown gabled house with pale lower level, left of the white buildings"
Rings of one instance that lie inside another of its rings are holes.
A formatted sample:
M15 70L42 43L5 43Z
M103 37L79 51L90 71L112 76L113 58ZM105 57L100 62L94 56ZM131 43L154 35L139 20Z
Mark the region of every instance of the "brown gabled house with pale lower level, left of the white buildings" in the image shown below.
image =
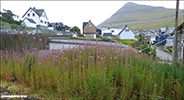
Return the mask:
M89 22L83 22L83 35L87 38L96 39L96 26L89 20Z

